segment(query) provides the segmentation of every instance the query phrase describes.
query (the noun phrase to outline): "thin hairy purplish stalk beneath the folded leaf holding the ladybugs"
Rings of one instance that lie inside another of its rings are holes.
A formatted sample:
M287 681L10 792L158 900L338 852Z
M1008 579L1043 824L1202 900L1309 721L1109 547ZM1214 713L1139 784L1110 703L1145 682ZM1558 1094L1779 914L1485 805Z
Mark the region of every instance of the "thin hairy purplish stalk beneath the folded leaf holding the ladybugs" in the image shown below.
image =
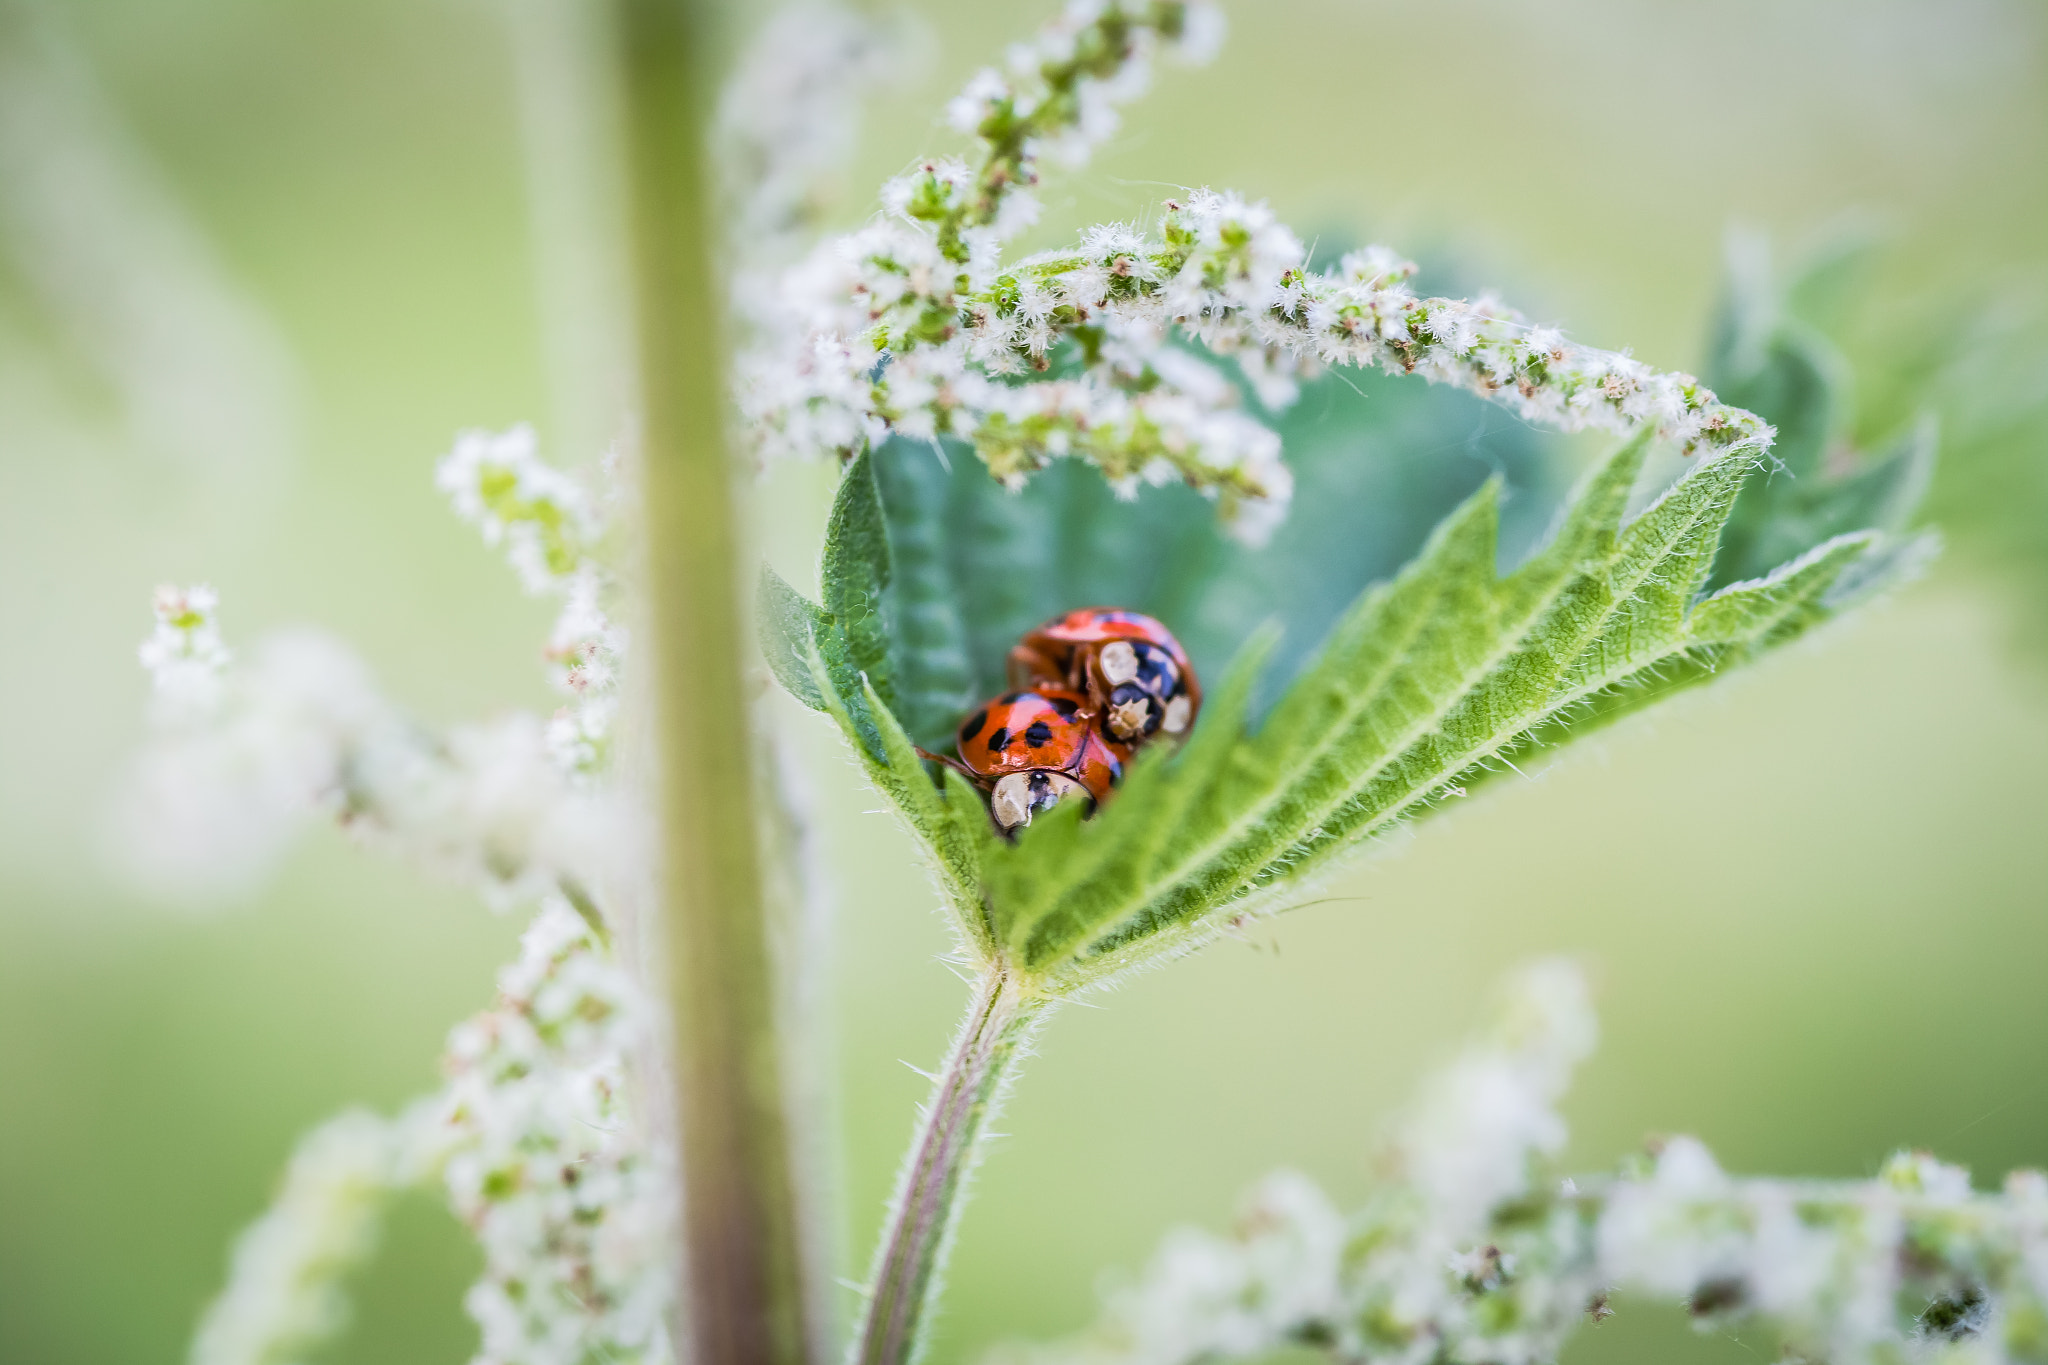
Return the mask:
M926 1310L952 1250L983 1128L1001 1103L1010 1066L1042 1015L1044 1003L1024 999L1001 968L985 968L975 982L967 1021L932 1087L932 1101L889 1201L860 1345L852 1357L858 1365L905 1365L920 1353Z

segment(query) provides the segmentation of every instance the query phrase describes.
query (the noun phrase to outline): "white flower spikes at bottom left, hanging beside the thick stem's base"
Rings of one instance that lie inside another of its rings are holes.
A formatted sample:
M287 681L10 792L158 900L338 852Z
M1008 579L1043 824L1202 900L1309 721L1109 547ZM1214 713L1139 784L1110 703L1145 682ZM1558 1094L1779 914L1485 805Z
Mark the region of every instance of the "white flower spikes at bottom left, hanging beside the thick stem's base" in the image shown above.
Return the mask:
M588 921L549 896L449 1038L449 1081L399 1117L350 1111L301 1138L236 1242L193 1365L299 1359L346 1318L342 1277L393 1189L436 1177L483 1248L473 1365L666 1365L674 1177L631 1105L645 1005Z

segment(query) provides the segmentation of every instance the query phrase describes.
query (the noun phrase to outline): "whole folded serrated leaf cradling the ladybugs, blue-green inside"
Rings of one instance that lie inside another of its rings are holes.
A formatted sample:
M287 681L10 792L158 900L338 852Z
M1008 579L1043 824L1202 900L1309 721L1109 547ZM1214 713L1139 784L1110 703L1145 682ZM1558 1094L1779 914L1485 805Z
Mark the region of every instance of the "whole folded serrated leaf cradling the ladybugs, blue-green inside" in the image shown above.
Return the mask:
M1831 430L1823 364L1778 379L1819 405L1806 432ZM997 489L967 452L948 465L934 446L891 442L850 467L827 536L825 606L764 585L764 616L780 632L770 663L854 739L979 956L1059 995L1194 945L1343 849L1513 772L1520 751L1794 639L1923 553L1872 530L1815 528L1903 516L1925 442L1829 479L1823 518L1792 524L1800 503L1765 491L1751 546L1817 536L1812 548L1704 596L1729 557L1731 512L1761 471L1704 463L1630 520L1645 432L1581 483L1528 555L1503 553L1503 510L1518 544L1536 540L1528 528L1542 503L1528 487L1540 487L1542 463L1520 465L1520 497L1468 467L1468 493L1419 555L1374 581L1384 548L1360 555L1343 526L1411 534L1413 501L1389 510L1358 479L1401 465L1376 436L1421 440L1386 428L1389 411L1360 403L1321 444L1311 432L1290 446L1307 526L1290 524L1270 551L1225 542L1186 489L1118 503L1083 467L1049 469L1022 495ZM1825 440L1800 440L1792 454L1817 469ZM1350 606L1333 602L1331 583ZM950 747L958 716L1001 688L1018 634L1083 604L1151 610L1212 679L1204 659L1229 645L1235 663L1188 743L1147 749L1094 819L1067 802L999 837L981 790L950 769L934 782L915 745ZM1321 639L1313 653L1309 630Z

